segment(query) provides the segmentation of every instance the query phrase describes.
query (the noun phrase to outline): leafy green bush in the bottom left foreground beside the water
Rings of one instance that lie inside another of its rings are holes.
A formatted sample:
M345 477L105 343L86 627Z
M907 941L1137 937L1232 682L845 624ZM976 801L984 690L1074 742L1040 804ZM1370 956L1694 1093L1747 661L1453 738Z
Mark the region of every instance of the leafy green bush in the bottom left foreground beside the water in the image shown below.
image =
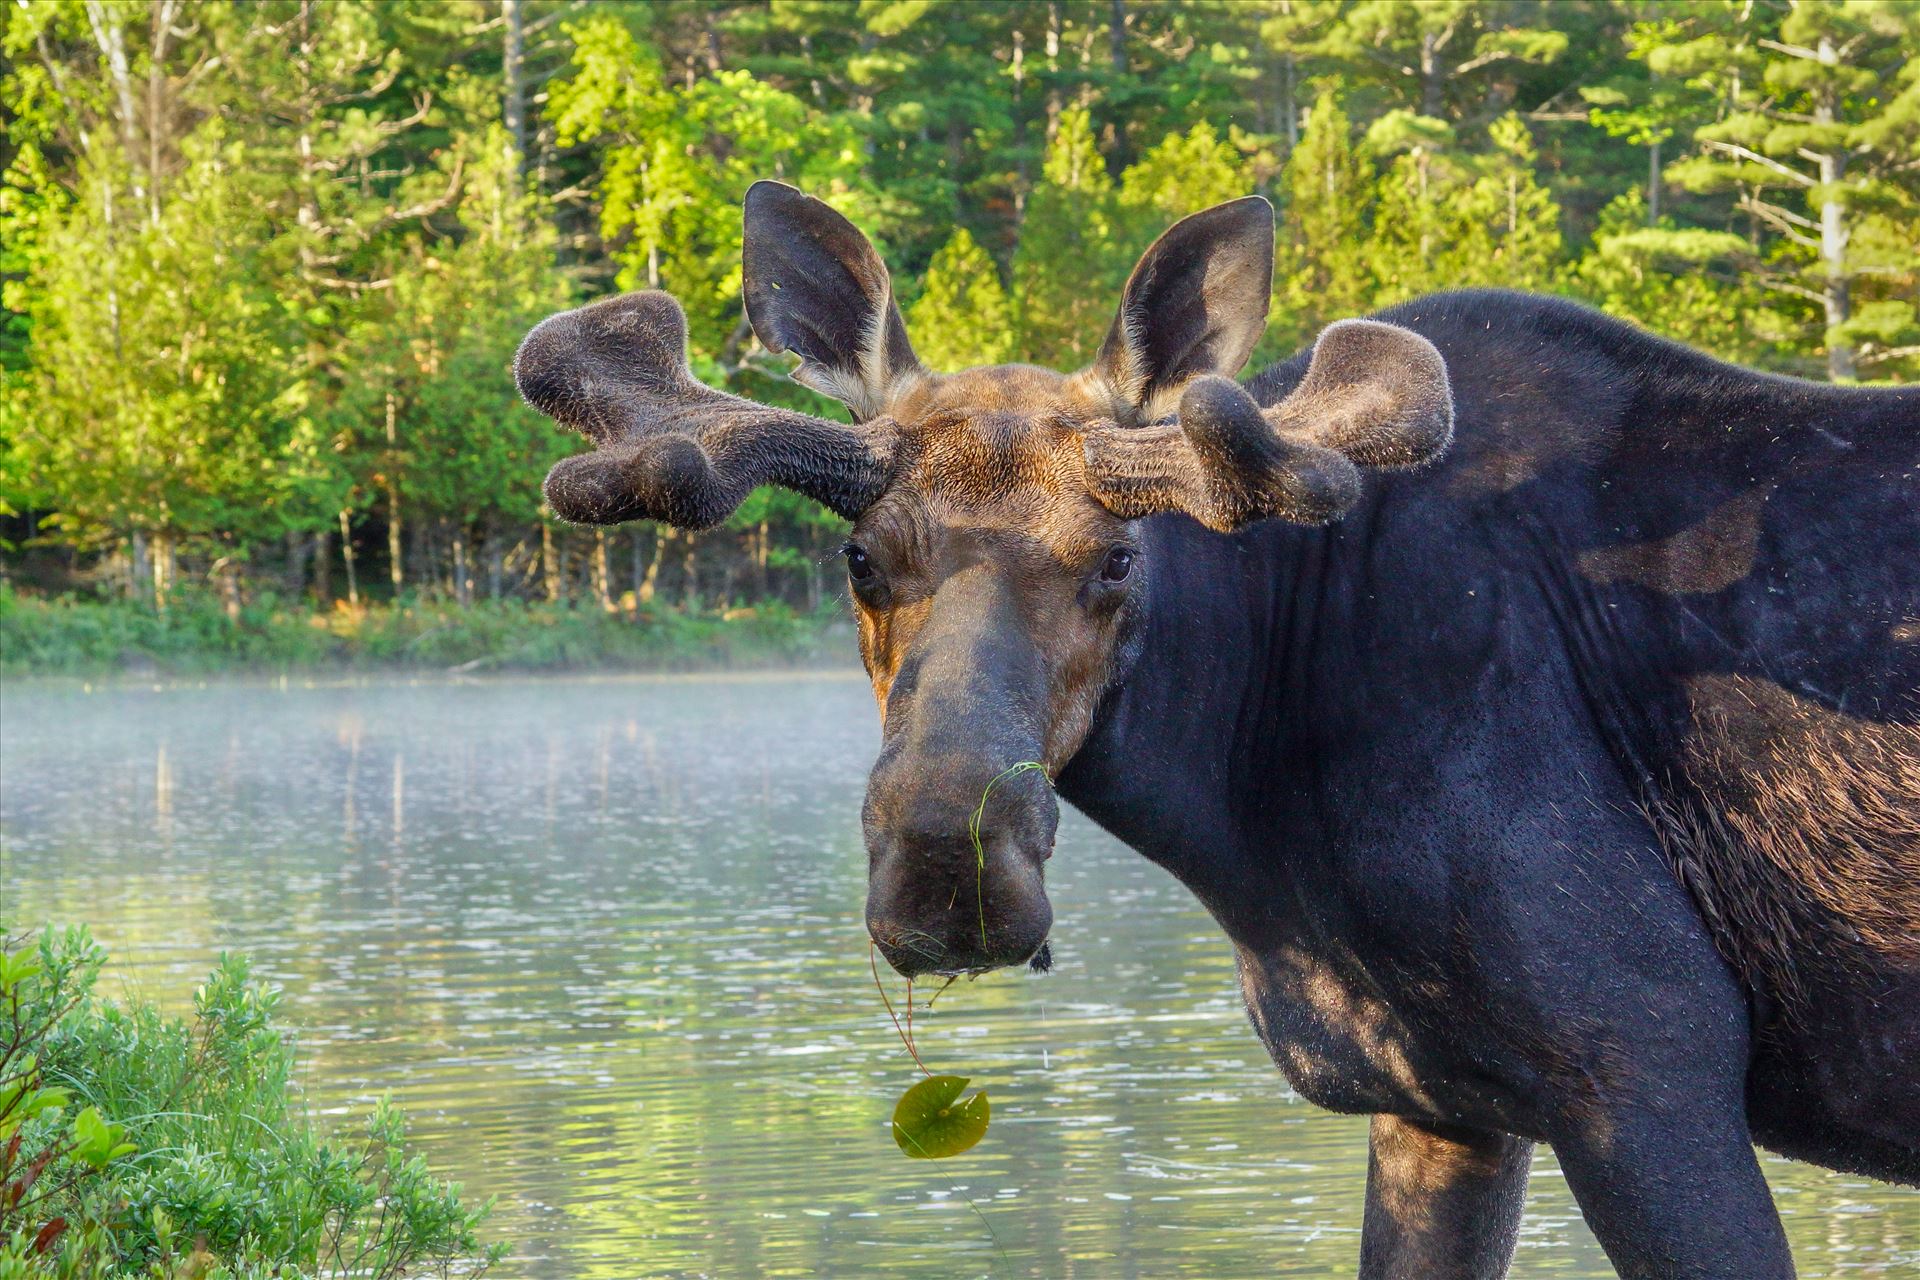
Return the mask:
M278 994L221 956L192 1019L92 994L83 929L0 960L0 1280L484 1272L499 1245L382 1103L321 1136ZM71 1117L69 1117L71 1113Z

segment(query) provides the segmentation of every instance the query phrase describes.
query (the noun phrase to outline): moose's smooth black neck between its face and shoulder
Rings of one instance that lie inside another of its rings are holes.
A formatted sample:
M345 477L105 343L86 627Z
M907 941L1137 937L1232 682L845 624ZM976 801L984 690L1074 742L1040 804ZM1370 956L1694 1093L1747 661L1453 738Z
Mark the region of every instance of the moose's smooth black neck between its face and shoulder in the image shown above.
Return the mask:
M1309 679L1346 614L1356 528L1263 524L1219 535L1185 516L1142 526L1152 578L1139 656L1060 775L1075 808L1179 877L1240 940L1269 917L1292 852L1317 844L1309 743L1342 718ZM1306 825L1300 825L1306 821Z

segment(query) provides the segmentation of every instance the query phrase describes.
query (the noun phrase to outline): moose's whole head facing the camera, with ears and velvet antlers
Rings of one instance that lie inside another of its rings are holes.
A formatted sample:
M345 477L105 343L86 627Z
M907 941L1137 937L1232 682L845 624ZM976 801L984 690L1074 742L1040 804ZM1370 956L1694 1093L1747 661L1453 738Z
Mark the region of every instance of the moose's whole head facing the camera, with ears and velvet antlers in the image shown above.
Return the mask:
M776 484L852 520L847 580L881 716L866 921L900 973L1021 963L1044 944L1058 808L1041 771L1079 750L1135 658L1144 585L1177 572L1142 555L1146 516L1223 533L1336 520L1359 468L1415 466L1452 438L1440 353L1371 320L1329 326L1298 388L1261 409L1233 376L1271 276L1273 211L1235 200L1146 251L1091 367L943 374L916 359L866 236L758 182L747 319L852 424L703 386L660 292L566 311L520 345L522 395L595 445L547 476L561 518L699 530Z

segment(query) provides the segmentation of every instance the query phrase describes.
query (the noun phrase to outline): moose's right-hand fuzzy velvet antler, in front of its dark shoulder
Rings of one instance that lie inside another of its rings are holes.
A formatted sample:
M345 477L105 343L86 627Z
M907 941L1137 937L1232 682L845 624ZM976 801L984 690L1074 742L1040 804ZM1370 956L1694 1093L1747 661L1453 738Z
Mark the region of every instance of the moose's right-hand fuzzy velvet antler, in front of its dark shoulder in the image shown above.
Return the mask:
M1321 524L1359 501L1359 466L1404 468L1453 439L1446 361L1396 324L1340 320L1271 409L1221 376L1187 384L1175 426L1087 432L1087 487L1116 516L1185 510L1210 530Z

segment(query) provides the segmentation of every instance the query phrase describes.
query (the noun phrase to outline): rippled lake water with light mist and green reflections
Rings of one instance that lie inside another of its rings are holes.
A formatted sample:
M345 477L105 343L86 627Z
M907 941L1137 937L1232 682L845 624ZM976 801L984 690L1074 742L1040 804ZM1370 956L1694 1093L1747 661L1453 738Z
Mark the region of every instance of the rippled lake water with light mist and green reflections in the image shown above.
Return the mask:
M1073 814L1054 973L916 1019L991 1132L900 1155L876 741L839 676L12 687L4 913L90 923L109 992L177 1007L250 952L323 1111L392 1094L499 1197L499 1276L1352 1274L1365 1121L1288 1092L1206 913ZM1920 1194L1766 1169L1801 1274L1920 1267ZM1613 1274L1549 1155L1515 1274Z

